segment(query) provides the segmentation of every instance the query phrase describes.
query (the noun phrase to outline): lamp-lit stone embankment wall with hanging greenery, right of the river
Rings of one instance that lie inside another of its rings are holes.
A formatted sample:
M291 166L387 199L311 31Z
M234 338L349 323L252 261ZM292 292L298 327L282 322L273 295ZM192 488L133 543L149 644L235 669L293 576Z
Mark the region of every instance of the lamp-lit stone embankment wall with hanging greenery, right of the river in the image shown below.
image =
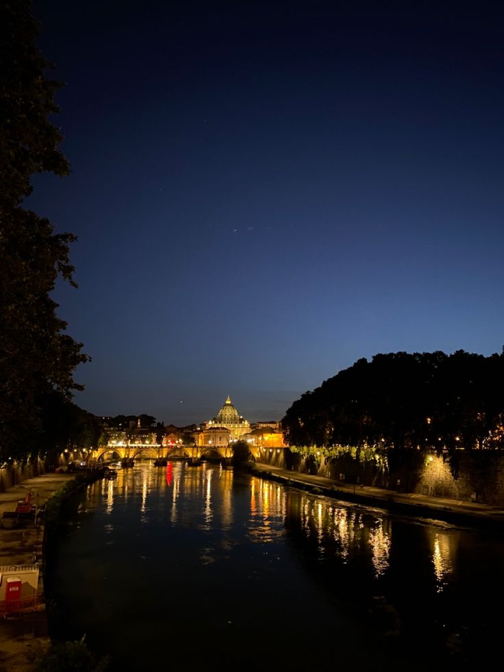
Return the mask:
M504 506L504 451L457 451L450 457L424 453L419 458L414 469L393 474L348 455L305 460L287 448L268 451L262 462L336 481Z

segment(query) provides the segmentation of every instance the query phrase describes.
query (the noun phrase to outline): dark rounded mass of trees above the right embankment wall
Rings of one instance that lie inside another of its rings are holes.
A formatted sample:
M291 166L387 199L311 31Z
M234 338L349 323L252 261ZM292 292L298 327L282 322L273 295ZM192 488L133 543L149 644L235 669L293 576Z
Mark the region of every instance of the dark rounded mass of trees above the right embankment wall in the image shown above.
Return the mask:
M504 447L504 353L377 354L294 401L292 446L404 451Z

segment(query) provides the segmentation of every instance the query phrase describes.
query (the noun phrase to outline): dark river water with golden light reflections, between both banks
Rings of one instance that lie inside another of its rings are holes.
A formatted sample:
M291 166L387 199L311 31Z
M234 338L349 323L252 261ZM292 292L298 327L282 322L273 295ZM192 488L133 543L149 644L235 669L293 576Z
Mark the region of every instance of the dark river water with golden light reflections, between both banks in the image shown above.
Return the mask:
M143 462L75 502L51 634L110 670L474 669L500 656L502 534L394 517L218 464Z

